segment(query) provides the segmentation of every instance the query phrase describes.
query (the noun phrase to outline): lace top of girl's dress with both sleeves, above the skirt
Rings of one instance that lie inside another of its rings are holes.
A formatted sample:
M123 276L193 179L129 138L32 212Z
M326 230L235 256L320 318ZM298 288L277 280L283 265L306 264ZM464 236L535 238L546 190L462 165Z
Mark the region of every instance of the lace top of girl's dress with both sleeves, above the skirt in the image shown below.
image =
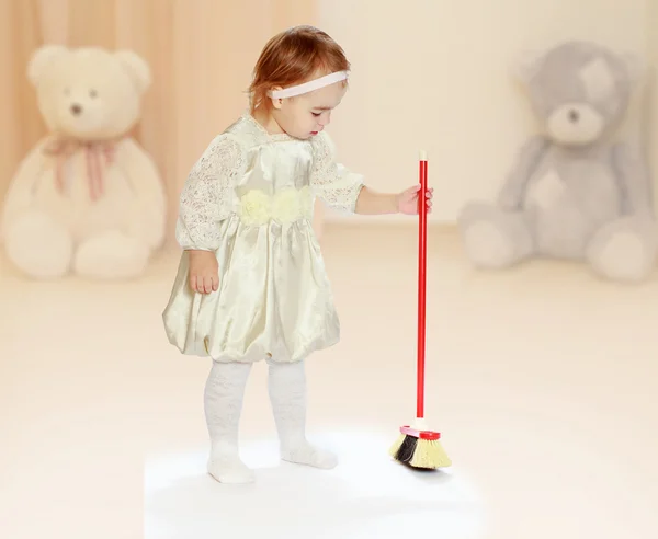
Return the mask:
M292 177L299 170L304 171L303 177ZM275 192L280 185L286 185L288 176L297 190L307 187L313 197L348 214L355 210L363 185L361 175L336 162L334 148L326 133L308 141L285 134L271 135L245 113L211 141L192 167L180 196L179 244L183 249L216 250L222 241L219 225L241 215L245 193ZM269 182L272 177L276 181ZM313 198L304 204L311 206ZM307 213L300 215L309 217ZM242 219L243 226L264 223Z

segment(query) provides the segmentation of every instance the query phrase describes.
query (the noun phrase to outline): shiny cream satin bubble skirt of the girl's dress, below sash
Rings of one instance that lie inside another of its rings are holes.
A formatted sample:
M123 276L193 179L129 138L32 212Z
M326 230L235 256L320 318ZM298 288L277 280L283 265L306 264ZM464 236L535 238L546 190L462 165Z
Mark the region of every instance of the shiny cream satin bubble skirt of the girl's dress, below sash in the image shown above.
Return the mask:
M181 255L162 313L172 345L216 362L290 363L338 343L333 295L308 219L253 227L231 216L220 227L217 291L194 293L188 253Z

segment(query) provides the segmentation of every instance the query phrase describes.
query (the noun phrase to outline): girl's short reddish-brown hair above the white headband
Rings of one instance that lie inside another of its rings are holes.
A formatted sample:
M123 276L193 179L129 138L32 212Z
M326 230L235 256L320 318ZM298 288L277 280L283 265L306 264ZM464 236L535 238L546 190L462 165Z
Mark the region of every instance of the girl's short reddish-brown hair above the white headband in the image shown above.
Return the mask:
M304 25L281 32L266 43L253 68L249 87L251 112L266 103L268 91L275 87L287 88L320 72L349 69L343 49L321 30Z

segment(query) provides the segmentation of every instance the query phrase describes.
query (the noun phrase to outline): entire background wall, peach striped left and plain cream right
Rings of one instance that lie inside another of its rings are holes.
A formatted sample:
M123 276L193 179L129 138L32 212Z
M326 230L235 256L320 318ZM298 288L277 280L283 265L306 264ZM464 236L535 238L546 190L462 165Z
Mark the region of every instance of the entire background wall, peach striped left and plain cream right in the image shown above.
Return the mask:
M523 50L576 36L640 54L654 50L656 59L658 31L649 34L649 28L658 28L650 22L650 15L657 20L657 4L2 0L0 197L19 160L43 133L25 80L25 62L39 44L132 47L148 59L155 84L138 136L162 170L173 218L192 161L245 106L242 91L264 41L286 26L311 23L338 38L353 62L351 91L331 126L340 157L375 188L397 192L416 182L418 149L427 149L438 197L431 219L452 220L465 200L495 193L534 128L524 95L510 77L513 60ZM657 110L650 116L653 131L658 131ZM627 133L640 133L639 117L636 108Z

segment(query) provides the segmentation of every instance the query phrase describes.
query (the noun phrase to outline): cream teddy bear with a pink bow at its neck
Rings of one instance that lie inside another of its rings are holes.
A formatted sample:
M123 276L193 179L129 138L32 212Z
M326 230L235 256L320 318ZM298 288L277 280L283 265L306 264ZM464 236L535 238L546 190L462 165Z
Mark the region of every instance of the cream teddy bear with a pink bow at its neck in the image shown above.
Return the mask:
M27 76L48 134L9 185L9 260L37 279L141 275L163 243L167 207L158 169L131 135L148 65L132 50L45 45Z

